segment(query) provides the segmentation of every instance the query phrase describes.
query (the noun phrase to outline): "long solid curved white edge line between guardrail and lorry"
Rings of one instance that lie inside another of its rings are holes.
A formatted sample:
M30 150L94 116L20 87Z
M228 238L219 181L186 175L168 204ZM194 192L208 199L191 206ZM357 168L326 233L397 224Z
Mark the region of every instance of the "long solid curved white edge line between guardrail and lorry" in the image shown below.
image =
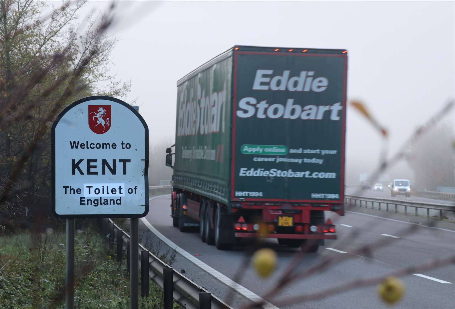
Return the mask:
M154 197L150 198L149 201L151 201L152 199L157 199L157 198L167 196L167 195L169 195L169 194L154 196ZM230 286L231 288L236 290L238 293L242 294L243 296L245 296L246 298L248 298L254 302L263 301L263 299L259 295L254 294L249 289L247 289L247 288L243 287L242 285L238 284L237 282L229 279L228 277L226 277L225 275L223 275L216 269L213 269L209 265L202 262L200 259L197 259L194 255L188 253L184 249L177 246L177 244L173 243L172 240L168 239L166 236L161 234L157 229L155 229L152 226L152 224L150 224L150 222L148 222L148 220L146 218L141 218L141 220L142 220L142 223L144 223L145 226L147 226L147 228L150 229L150 231L152 231L153 234L157 235L158 238L161 239L164 243L166 243L169 247L175 248L175 250L179 254L182 254L183 257L185 257L186 259L189 259L192 263L196 264L196 266L200 267L201 269L205 270L207 273L211 274L213 277L215 277L215 279L218 279L222 283L227 284L228 286ZM273 304L270 304L269 302L265 302L265 304L262 307L264 309L279 309L278 307L274 306Z

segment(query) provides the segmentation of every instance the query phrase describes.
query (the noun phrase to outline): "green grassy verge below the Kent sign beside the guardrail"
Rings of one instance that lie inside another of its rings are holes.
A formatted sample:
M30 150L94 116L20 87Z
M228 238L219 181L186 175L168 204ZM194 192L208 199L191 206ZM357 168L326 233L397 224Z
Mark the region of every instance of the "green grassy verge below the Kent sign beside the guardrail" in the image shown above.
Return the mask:
M49 235L42 262L36 239L30 233L0 237L0 308L65 308L65 234ZM130 307L126 259L117 263L105 248L95 230L76 233L75 308ZM140 308L163 308L162 292L152 282L150 295L140 298Z

